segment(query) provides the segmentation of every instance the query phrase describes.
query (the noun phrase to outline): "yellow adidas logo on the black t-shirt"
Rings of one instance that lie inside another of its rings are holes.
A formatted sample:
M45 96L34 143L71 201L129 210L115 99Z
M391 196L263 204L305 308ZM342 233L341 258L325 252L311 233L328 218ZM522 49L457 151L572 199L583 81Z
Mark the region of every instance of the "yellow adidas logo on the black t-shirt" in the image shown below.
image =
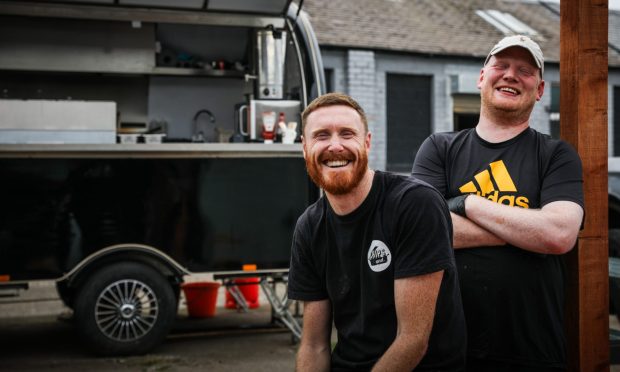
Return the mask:
M529 208L529 200L525 196L517 196L517 188L515 183L506 169L506 165L502 160L495 161L489 164L490 172L488 169L474 176L474 180L469 181L463 186L459 187L459 191L462 194L477 194L485 197L496 203L517 206L521 208ZM478 186L476 186L478 184ZM501 193L501 196L500 196Z

